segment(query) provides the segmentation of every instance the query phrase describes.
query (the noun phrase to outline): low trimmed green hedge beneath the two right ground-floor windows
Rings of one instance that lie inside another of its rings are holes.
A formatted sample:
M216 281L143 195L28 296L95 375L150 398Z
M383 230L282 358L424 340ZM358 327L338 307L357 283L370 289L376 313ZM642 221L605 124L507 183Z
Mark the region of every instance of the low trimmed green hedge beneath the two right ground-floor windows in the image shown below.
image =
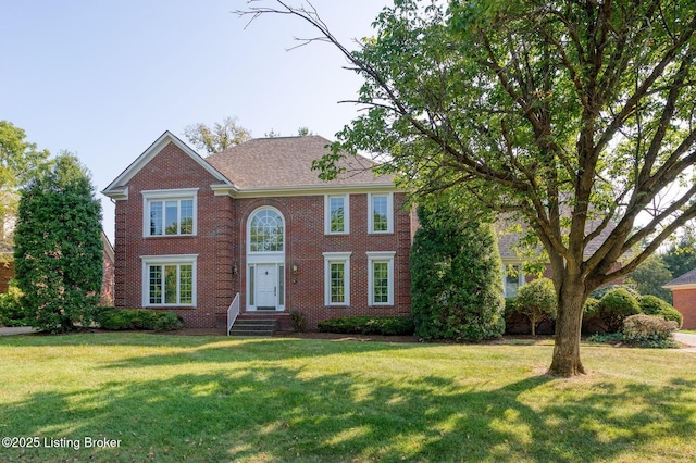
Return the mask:
M319 322L316 328L347 335L411 336L415 326L408 316L344 316Z

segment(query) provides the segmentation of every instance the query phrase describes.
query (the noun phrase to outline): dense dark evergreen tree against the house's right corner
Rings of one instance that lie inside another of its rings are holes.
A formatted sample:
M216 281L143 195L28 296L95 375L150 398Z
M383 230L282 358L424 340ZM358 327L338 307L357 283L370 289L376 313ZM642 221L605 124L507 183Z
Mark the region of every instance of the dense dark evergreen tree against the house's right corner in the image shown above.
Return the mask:
M502 335L502 264L493 227L464 222L446 204L418 214L410 258L415 334L470 341Z

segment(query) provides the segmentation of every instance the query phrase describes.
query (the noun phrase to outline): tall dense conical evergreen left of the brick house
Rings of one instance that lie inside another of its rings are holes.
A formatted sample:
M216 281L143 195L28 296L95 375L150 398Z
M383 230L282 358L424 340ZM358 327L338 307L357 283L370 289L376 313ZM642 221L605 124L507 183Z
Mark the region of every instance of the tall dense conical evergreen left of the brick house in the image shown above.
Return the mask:
M26 320L51 333L86 326L103 272L101 204L88 173L62 153L21 192L14 260Z

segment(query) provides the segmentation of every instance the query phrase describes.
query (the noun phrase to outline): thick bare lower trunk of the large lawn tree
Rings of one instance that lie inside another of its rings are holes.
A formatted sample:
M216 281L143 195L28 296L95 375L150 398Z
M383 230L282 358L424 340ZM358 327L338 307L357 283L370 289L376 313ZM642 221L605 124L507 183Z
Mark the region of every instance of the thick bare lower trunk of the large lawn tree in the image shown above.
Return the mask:
M566 281L558 298L556 341L549 375L570 377L582 375L585 367L580 361L580 331L582 328L584 285Z

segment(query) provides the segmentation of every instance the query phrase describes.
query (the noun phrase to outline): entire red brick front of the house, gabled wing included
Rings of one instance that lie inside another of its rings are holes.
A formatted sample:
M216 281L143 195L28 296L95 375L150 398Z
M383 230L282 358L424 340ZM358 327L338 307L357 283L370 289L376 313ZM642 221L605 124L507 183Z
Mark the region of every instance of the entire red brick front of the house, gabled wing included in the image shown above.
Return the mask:
M246 310L246 229L250 214L272 205L285 218L286 312L303 312L316 322L345 315L410 314L409 249L411 217L403 193L394 195L394 234L368 234L368 196L350 196L350 234L324 235L324 197L274 199L231 199L215 197L210 188L215 178L170 143L128 183L128 200L116 202L115 220L115 306L142 306L141 255L198 254L197 306L166 308L179 313L189 327L212 327L225 320L227 306L240 292ZM198 234L195 237L142 236L144 190L199 188ZM323 252L351 251L350 303L324 306ZM394 259L393 306L368 305L369 251L396 251ZM298 273L293 274L293 265ZM233 274L233 267L238 272Z

